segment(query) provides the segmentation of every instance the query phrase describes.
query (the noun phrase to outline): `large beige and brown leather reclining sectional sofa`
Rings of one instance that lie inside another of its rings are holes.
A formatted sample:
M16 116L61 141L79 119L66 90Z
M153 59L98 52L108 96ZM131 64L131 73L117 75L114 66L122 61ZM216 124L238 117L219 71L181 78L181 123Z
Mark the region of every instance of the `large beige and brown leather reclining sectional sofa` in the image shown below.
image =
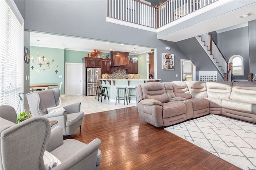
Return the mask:
M149 82L136 86L140 117L166 127L209 113L256 123L256 83Z

